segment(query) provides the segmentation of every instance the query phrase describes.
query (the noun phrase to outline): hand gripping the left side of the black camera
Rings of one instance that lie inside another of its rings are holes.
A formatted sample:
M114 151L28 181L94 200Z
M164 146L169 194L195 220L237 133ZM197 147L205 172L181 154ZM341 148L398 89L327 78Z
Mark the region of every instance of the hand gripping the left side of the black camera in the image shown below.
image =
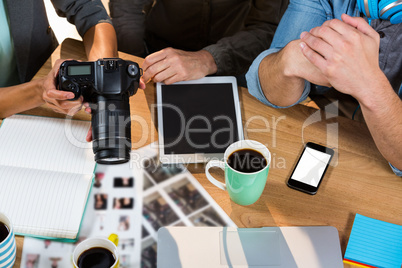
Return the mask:
M83 100L82 96L77 100L69 101L69 99L74 98L74 93L68 91L60 91L56 89L56 77L59 73L59 68L63 61L64 60L58 59L54 64L52 70L43 79L42 98L53 111L57 113L74 115L79 110L81 110Z

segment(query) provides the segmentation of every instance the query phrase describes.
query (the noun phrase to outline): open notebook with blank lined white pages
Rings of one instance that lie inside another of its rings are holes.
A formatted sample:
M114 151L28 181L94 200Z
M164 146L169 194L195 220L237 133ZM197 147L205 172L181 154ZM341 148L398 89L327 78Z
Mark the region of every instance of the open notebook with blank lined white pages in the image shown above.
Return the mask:
M0 128L0 211L18 235L76 239L95 161L90 122L14 115Z

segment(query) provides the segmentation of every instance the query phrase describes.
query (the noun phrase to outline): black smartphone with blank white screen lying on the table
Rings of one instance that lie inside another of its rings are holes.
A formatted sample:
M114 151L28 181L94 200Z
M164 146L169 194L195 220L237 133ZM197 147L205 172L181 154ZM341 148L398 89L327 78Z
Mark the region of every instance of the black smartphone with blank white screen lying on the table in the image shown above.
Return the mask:
M288 180L288 186L315 194L333 154L334 151L330 148L311 142L307 143Z

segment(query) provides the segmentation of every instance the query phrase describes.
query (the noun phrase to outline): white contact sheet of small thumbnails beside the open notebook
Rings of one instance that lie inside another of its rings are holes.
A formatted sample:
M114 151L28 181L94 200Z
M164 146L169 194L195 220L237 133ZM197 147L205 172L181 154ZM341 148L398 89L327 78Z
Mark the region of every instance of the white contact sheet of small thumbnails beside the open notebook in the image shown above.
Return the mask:
M75 246L89 237L119 236L120 268L140 267L143 174L138 165L97 165L79 239L62 243L26 237L21 268L72 267Z

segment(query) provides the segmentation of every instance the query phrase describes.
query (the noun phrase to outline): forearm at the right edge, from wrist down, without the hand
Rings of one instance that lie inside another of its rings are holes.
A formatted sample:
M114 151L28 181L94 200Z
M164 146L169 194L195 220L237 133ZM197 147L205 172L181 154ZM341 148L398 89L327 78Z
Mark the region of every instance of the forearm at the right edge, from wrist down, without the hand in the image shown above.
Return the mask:
M384 158L402 170L402 101L385 76L373 79L365 91L358 100L374 142Z

